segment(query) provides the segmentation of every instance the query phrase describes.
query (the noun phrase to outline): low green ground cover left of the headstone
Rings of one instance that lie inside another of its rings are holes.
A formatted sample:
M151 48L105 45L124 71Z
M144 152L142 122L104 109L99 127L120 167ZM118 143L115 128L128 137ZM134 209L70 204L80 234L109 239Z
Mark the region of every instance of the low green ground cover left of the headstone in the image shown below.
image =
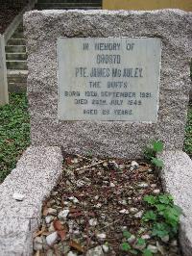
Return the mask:
M24 93L11 93L10 104L0 107L0 182L15 167L30 144L30 118Z

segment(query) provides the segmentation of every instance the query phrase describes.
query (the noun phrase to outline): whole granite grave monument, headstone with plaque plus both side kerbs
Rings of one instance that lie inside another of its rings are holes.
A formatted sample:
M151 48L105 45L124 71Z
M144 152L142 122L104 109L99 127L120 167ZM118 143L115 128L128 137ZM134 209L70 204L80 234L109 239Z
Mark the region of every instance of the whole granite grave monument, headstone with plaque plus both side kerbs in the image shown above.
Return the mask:
M135 159L158 139L164 189L184 213L180 244L192 255L192 162L181 151L192 13L35 11L24 24L33 145L0 186L0 251L32 254L42 201L62 171L60 147Z

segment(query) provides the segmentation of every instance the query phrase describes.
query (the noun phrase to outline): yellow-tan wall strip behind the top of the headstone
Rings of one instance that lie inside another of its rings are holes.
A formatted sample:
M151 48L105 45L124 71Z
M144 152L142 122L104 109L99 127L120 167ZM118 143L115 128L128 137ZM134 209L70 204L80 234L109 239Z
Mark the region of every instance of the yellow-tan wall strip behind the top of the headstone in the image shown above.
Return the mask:
M192 11L192 0L103 0L108 10L155 10L174 8Z

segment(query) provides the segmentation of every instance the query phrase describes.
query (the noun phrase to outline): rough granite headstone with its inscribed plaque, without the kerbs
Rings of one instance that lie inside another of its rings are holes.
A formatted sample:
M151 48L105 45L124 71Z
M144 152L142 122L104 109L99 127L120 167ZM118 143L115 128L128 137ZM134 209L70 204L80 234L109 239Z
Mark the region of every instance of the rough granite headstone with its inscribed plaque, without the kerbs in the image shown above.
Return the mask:
M182 148L190 13L32 12L25 26L34 145L131 158L152 139Z

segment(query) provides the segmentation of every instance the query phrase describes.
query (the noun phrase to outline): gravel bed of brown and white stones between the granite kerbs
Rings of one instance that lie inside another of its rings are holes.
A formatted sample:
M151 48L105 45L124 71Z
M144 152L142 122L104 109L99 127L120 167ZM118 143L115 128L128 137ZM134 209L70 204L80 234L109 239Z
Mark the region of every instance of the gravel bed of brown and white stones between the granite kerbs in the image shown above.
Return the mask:
M133 255L122 250L125 241L141 253L137 238L153 255L180 255L177 238L156 239L141 221L146 194L162 187L153 166L145 162L66 156L63 174L44 201L34 255ZM132 237L126 239L123 232Z

